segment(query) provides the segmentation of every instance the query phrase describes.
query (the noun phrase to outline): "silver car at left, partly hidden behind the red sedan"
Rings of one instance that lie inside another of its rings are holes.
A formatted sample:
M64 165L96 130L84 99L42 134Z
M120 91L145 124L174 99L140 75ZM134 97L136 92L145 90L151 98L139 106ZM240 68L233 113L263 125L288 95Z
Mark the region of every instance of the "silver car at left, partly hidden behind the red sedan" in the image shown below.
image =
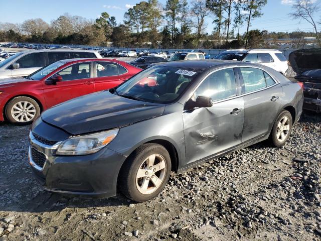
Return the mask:
M58 60L73 58L102 58L96 51L90 50L31 50L19 52L0 62L0 79L27 76L38 69Z

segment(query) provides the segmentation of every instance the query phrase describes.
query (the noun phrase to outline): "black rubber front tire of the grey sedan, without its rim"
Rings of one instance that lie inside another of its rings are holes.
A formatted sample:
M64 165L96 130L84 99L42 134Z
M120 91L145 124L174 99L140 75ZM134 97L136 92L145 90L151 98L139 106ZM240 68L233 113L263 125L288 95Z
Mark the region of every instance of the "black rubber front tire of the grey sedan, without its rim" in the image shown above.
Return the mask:
M163 183L161 184L161 186L159 186L158 190L156 190L151 194L142 194L138 191L136 187L136 174L142 161L152 154L158 154L164 157L165 163L166 163L166 174L165 174ZM132 160L130 171L127 177L128 178L127 191L129 194L129 198L136 202L145 202L157 196L167 184L170 178L171 168L172 168L172 165L171 165L170 154L168 153L166 148L164 148L163 146L158 144L151 144L151 145L146 145L144 148L138 150L138 152L135 155L135 158Z

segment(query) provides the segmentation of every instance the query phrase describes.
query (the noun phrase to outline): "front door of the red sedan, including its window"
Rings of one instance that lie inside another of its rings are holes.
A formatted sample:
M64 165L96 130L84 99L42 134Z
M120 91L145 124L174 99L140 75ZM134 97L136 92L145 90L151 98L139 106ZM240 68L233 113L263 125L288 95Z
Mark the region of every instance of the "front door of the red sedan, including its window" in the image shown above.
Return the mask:
M92 63L80 62L67 66L54 75L60 75L62 81L51 78L44 81L44 97L47 108L95 91L92 77Z

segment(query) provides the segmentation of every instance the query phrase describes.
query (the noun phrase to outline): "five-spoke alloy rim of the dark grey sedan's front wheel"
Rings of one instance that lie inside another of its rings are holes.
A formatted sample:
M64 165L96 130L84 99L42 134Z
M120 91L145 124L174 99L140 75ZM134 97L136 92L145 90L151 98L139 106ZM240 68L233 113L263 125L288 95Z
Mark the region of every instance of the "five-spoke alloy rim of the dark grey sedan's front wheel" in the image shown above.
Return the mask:
M166 176L166 162L163 156L152 154L139 166L136 174L136 187L141 194L155 192Z

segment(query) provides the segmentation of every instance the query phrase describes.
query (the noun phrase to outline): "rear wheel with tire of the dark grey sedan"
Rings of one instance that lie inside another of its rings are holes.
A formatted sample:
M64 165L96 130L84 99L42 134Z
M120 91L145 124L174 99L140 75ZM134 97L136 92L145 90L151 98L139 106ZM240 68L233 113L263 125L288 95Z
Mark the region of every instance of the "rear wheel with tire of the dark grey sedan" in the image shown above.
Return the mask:
M280 147L285 144L291 134L292 123L292 115L287 110L283 110L277 116L270 135L270 142L273 146Z

